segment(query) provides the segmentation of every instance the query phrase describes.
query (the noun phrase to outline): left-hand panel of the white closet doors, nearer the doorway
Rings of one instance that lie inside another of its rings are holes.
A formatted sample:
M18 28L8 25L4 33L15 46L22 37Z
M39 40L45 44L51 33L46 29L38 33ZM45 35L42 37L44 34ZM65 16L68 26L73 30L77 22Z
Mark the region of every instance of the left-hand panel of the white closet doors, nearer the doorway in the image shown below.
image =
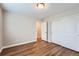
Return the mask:
M54 19L52 21L52 42L61 44L64 40L64 23L63 19Z

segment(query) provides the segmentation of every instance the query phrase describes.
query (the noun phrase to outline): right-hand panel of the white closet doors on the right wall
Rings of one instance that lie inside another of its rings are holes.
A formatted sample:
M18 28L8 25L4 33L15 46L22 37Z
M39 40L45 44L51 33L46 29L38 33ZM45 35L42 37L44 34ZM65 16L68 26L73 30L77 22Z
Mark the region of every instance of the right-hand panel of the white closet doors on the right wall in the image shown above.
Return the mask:
M70 49L75 50L75 43L76 43L76 36L75 36L75 30L76 30L76 24L75 24L75 16L68 16L65 18L64 22L64 46Z

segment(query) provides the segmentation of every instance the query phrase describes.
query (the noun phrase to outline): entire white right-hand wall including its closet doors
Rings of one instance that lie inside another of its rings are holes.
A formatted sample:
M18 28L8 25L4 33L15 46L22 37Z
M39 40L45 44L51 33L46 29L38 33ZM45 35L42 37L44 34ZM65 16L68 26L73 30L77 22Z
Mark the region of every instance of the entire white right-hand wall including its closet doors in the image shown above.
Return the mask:
M79 14L51 17L50 34L53 43L79 51Z

